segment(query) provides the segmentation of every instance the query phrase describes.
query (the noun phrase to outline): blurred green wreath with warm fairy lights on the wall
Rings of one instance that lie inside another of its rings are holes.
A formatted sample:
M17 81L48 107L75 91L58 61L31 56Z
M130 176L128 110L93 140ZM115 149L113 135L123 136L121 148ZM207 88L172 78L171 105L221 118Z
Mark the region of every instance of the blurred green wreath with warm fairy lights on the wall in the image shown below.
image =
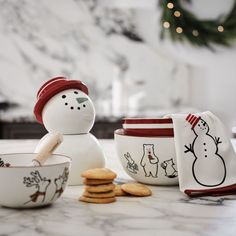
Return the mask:
M160 0L160 6L162 39L169 35L173 41L187 40L212 49L212 43L230 46L236 38L236 0L228 15L215 20L198 20L179 0Z

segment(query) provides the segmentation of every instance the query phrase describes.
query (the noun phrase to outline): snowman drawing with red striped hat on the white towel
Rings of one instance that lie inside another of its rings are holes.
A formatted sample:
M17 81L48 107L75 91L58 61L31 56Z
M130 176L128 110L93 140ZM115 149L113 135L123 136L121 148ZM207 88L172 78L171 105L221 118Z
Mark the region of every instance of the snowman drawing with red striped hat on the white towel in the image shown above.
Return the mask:
M216 187L225 181L226 166L218 153L219 137L210 134L210 127L201 117L189 114L186 120L192 125L195 138L189 146L185 145L185 153L191 152L195 160L192 173L198 184L205 187Z

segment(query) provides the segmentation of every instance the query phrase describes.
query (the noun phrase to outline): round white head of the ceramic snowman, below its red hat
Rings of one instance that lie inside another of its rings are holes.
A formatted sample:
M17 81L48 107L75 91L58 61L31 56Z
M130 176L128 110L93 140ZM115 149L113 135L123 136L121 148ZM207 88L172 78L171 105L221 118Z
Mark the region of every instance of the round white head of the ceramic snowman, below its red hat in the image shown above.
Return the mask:
M84 92L68 89L46 103L42 117L48 131L62 134L88 133L94 123L95 109Z

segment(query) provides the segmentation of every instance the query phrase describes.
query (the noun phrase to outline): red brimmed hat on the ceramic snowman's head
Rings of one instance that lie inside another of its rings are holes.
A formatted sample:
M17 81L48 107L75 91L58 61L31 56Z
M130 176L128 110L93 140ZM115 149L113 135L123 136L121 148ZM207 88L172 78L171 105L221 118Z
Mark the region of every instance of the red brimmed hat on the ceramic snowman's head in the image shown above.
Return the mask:
M37 102L34 106L34 115L39 123L43 124L42 110L44 105L54 95L66 89L79 89L88 95L87 86L80 80L68 80L63 76L48 80L39 89Z

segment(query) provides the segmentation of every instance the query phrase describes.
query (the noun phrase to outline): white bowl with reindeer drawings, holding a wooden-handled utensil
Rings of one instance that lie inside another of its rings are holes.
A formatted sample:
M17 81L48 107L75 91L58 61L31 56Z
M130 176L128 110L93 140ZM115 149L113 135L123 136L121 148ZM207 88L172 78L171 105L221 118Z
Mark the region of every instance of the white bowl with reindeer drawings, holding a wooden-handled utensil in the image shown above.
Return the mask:
M0 205L33 208L56 201L65 190L71 159L49 156L42 166L32 166L35 153L0 155Z

